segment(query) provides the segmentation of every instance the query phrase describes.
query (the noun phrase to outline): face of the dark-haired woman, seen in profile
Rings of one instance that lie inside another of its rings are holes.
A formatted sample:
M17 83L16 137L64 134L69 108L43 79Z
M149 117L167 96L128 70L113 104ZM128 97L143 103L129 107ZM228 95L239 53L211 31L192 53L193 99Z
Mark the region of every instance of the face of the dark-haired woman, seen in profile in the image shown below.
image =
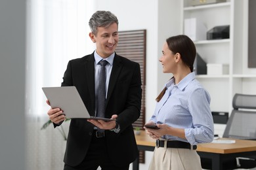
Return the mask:
M177 67L175 54L169 50L167 42L163 44L162 56L159 61L163 66L163 73L173 73Z

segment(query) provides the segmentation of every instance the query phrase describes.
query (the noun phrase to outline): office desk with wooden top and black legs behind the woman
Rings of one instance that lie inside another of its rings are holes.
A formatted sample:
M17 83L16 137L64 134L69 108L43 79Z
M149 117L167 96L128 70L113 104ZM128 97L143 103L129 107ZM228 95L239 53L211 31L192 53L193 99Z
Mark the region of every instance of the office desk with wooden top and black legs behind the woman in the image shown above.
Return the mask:
M156 141L141 131L135 135L139 150L153 151ZM223 140L223 139L219 139ZM211 159L211 169L222 170L223 162L240 156L256 156L256 141L233 139L236 143L202 143L196 151L200 158ZM133 170L139 170L139 160L133 162Z

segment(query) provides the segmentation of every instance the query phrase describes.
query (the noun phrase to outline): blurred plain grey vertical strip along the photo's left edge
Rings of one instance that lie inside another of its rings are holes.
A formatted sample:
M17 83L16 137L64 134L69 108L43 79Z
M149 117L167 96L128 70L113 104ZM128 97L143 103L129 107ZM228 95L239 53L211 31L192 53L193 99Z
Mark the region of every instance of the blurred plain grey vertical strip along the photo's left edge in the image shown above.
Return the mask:
M0 1L0 169L25 170L26 0Z

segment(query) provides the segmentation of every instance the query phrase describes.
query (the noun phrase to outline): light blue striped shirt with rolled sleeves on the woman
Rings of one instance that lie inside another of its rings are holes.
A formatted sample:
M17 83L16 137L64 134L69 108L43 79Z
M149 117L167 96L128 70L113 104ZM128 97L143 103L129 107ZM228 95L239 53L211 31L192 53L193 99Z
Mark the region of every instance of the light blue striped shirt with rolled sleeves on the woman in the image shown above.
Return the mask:
M210 110L210 95L196 80L194 72L175 84L171 78L165 84L167 90L156 104L152 122L182 128L186 139L164 135L163 139L184 141L192 145L213 141L214 126Z

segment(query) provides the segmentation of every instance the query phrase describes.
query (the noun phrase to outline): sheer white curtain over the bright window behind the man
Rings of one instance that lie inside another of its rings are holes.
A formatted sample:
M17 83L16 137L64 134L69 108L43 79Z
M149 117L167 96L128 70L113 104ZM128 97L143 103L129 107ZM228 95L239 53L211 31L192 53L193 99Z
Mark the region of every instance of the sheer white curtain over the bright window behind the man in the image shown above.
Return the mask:
M27 1L26 116L28 170L63 169L66 142L47 120L49 106L41 88L60 86L68 60L91 54L89 0ZM68 133L68 122L64 129Z

